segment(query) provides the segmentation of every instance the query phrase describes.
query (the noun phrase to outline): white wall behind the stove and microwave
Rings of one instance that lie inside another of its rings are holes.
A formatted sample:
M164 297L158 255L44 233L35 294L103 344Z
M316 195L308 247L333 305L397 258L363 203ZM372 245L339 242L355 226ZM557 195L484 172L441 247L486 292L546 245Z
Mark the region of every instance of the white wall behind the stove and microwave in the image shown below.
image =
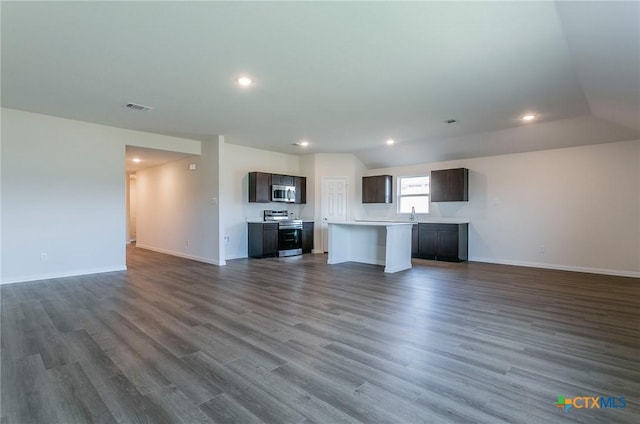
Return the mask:
M226 144L223 169L223 219L226 259L246 258L247 219L262 219L265 209L287 209L296 216L305 212L304 205L283 203L249 203L248 174L252 171L306 176L300 172L300 157L267 150ZM309 187L309 181L307 181ZM308 198L307 194L307 198Z

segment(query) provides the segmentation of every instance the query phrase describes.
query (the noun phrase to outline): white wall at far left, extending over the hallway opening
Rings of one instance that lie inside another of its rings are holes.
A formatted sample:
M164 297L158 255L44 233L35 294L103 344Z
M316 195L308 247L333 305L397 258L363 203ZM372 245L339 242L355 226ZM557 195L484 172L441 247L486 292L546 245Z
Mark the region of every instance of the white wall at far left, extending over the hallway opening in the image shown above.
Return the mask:
M125 145L200 151L193 140L1 113L2 283L125 269Z

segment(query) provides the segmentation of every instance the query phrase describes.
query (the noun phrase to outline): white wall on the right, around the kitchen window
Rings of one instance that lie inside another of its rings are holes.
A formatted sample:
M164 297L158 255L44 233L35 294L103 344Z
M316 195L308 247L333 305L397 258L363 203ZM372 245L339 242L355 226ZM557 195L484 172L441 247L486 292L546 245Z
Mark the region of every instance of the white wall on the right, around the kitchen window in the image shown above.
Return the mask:
M469 169L469 201L432 203L430 215L470 219L470 260L640 276L640 141L366 174L454 167ZM394 217L395 208L365 205L360 218Z

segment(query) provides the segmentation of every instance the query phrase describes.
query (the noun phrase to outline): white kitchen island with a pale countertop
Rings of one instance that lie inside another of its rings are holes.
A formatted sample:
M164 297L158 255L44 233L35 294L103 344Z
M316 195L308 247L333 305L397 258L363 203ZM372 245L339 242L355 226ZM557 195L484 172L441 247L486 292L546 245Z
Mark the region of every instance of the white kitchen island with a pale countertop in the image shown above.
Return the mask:
M384 272L411 268L412 223L347 221L329 223L328 264L384 265Z

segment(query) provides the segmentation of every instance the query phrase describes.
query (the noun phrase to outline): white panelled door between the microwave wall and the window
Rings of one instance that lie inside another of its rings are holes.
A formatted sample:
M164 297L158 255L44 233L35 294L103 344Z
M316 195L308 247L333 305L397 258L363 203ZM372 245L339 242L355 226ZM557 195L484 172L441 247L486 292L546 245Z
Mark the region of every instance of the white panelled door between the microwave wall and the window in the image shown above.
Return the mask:
M322 177L320 208L322 222L322 250L329 251L328 222L347 220L347 177Z

